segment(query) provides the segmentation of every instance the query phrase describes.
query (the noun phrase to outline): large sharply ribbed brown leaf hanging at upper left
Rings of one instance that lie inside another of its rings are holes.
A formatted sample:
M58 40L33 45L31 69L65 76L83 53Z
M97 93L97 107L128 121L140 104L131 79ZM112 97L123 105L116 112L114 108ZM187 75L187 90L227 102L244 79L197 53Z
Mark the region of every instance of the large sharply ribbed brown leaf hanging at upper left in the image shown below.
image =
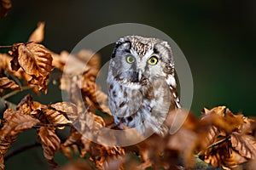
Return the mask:
M49 51L35 42L17 43L13 47L9 51L14 57L11 60L12 69L17 71L21 67L30 76L27 82L37 85L39 90L46 93L49 72L54 68Z

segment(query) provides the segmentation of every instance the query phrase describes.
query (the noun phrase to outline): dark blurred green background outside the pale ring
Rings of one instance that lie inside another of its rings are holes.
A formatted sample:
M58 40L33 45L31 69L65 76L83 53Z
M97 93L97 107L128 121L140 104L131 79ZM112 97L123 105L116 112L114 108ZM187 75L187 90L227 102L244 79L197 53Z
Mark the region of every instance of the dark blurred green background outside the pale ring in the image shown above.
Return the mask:
M194 78L191 111L200 115L203 107L227 105L235 113L256 114L256 1L13 0L8 16L0 20L0 44L26 42L38 21L46 22L44 45L56 53L71 51L103 26L124 22L154 26L172 37L189 61ZM108 60L111 47L100 53L102 60ZM49 93L36 99L45 104L60 101L57 89L50 84ZM17 102L25 94L9 100ZM31 157L26 153L9 159L6 169L34 169L30 161L37 169L47 168L37 159L42 152L29 153Z

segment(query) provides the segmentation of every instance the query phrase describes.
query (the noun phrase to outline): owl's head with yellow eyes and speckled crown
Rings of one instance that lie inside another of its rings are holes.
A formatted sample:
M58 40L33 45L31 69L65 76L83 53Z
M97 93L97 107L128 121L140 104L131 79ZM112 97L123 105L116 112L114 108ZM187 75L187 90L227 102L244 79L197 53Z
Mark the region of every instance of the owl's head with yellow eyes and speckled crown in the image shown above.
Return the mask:
M113 78L124 84L143 84L151 77L164 77L172 83L172 49L168 42L157 38L122 37L113 49L109 69Z

